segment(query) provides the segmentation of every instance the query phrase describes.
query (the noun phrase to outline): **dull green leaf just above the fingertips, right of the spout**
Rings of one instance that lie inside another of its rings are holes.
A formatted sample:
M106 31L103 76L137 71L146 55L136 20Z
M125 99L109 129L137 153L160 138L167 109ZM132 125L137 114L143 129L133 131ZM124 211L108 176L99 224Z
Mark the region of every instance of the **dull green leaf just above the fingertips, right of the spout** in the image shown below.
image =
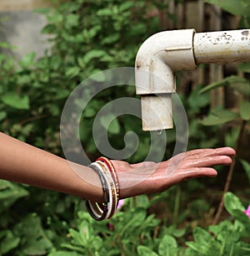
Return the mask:
M229 121L236 120L238 117L237 113L233 113L230 110L216 108L211 110L207 117L198 122L202 125L223 125Z

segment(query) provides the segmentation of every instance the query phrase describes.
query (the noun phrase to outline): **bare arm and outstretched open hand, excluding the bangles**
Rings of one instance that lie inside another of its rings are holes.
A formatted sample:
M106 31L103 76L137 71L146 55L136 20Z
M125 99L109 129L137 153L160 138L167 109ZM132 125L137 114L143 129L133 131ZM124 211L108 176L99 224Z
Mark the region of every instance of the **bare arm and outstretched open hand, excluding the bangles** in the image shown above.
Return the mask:
M217 172L211 166L231 164L234 154L232 148L223 147L188 151L161 163L112 163L117 171L121 198L125 198L163 192L189 178L216 177ZM72 162L69 164L61 157L2 133L0 178L102 202L101 182L91 168Z

